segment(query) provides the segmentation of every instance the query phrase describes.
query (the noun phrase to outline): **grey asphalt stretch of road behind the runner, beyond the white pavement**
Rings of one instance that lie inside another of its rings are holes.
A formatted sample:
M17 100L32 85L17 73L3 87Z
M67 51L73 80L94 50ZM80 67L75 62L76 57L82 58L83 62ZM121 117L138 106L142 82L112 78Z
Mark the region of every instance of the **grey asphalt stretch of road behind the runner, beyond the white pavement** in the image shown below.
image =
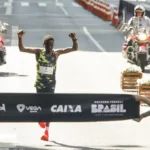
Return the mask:
M46 5L43 4L42 7L40 2ZM55 0L27 0L24 3L14 0L11 9L10 6L0 9L0 18L10 24L11 33L16 29L25 30L25 46L42 47L42 40L46 34L54 36L56 48L72 46L68 34L76 32L80 50L101 51L85 34L83 27L86 27L106 51L120 51L123 38L110 23L84 10L75 4L74 0L60 0L59 3L56 4ZM8 34L7 38L15 39L12 34ZM7 45L16 46L17 41L10 41Z

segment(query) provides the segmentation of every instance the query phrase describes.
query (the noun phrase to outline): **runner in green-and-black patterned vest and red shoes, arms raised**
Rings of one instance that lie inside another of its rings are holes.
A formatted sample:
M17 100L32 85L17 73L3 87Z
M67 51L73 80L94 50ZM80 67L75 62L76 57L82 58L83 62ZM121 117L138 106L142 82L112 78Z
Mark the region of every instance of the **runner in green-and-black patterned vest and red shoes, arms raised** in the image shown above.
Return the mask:
M35 54L37 60L37 78L35 87L37 93L51 93L55 92L55 74L57 59L60 55L67 54L78 50L78 42L75 33L70 33L73 45L72 47L62 48L54 51L54 38L51 35L46 35L43 40L43 49L25 48L22 42L24 31L18 32L18 47L21 52ZM39 122L41 128L45 129L41 140L49 140L49 122Z

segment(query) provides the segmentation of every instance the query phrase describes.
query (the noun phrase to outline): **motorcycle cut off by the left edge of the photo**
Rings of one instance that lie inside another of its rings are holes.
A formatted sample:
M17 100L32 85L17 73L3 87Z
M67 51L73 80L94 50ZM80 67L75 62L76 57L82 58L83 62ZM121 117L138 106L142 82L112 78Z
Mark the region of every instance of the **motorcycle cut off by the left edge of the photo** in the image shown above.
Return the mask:
M2 21L0 21L0 66L6 64L6 47L4 40L8 26L8 23L2 23Z

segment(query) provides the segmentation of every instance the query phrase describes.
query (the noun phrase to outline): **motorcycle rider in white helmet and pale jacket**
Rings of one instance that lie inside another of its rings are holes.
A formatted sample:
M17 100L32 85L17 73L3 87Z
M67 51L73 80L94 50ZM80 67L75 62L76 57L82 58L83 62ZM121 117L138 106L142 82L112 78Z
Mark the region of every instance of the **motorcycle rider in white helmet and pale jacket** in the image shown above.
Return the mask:
M128 21L128 25L130 27L135 28L136 27L136 22L134 22L134 18L138 17L139 18L139 27L150 27L150 18L148 16L145 16L145 8L142 5L137 5L134 8L134 16L130 18L130 20ZM124 32L125 33L129 33L131 28L125 28ZM129 39L127 41L127 49L131 49L134 50L133 46L132 46L132 39Z

